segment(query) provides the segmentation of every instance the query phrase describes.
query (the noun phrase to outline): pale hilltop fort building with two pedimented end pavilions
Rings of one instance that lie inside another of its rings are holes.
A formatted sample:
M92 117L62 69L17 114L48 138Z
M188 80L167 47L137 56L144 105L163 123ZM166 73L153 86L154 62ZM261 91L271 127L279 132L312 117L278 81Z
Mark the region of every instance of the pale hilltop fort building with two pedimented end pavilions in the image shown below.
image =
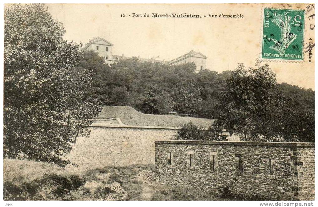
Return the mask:
M131 57L122 55L113 55L113 46L114 44L108 42L104 38L96 37L91 40L87 44L85 44L84 50L93 50L98 53L100 57L104 57L106 64L113 64L117 63L120 60L128 59ZM190 52L181 55L180 57L177 57L171 61L164 61L164 60L156 60L155 58L146 59L146 58L140 58L138 56L139 60L141 62L151 62L151 63L162 63L162 64L168 64L168 65L178 65L182 63L189 63L194 62L195 63L195 72L199 72L201 70L206 69L206 59L207 57L203 55L200 52L196 52L194 50L191 50Z

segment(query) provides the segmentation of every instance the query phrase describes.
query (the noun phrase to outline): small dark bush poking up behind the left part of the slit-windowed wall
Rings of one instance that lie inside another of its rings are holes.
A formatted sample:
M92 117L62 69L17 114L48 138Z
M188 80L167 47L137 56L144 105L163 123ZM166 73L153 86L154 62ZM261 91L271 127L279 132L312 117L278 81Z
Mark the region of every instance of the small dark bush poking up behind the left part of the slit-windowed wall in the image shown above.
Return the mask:
M176 140L215 140L226 141L227 135L222 133L222 129L217 127L209 127L208 129L201 128L191 121L181 125L176 133Z

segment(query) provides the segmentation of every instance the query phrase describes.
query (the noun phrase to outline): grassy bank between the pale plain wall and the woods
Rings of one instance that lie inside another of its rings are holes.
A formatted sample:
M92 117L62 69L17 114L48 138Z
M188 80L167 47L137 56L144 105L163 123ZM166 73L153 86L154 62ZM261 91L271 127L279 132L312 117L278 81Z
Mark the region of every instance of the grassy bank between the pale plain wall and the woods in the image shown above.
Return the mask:
M121 122L125 125L135 126L168 126L168 127L180 127L182 124L192 123L208 128L211 126L214 120L202 119L193 117L181 117L175 115L153 115L145 114L136 111L133 107L128 106L115 106L115 107L102 107L102 111L99 113L99 119L120 118Z

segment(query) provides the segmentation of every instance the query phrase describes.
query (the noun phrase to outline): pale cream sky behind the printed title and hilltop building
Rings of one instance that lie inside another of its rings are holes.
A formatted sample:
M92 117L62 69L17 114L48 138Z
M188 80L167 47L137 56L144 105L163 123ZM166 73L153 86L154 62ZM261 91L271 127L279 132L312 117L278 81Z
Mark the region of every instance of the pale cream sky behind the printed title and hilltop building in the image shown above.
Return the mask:
M234 70L238 63L254 66L260 56L264 7L306 9L305 4L102 4L50 3L54 19L62 22L68 41L87 43L102 37L114 44L113 54L158 57L169 61L190 50L207 56L207 68L222 72ZM310 15L312 11L309 11ZM313 11L314 12L314 11ZM132 17L133 13L142 17ZM144 17L145 13L150 17ZM157 14L199 14L203 18L152 18ZM210 18L208 14L217 15ZM244 15L243 18L219 18L220 14ZM122 15L125 15L123 17ZM131 16L129 16L131 15ZM315 42L315 30L305 20L305 46ZM315 23L314 23L315 24ZM313 49L314 53L314 49ZM315 60L302 63L267 61L279 83L287 82L315 90ZM313 54L313 57L315 55Z

